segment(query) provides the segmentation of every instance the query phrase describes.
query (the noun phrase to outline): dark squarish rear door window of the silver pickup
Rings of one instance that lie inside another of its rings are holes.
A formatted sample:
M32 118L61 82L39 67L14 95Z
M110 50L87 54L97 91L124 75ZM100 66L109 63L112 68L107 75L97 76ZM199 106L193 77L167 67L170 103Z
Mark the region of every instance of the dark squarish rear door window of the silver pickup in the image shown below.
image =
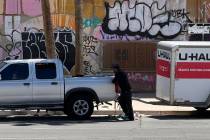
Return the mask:
M55 63L36 63L36 78L37 79L55 79L56 66Z

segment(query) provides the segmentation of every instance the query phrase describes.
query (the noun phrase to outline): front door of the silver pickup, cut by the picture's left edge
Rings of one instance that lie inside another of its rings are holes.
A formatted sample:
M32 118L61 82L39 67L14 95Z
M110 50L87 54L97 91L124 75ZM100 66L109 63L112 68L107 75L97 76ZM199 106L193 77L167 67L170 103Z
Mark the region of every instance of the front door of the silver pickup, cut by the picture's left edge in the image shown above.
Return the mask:
M29 71L28 63L15 63L0 72L1 105L32 103L32 80Z

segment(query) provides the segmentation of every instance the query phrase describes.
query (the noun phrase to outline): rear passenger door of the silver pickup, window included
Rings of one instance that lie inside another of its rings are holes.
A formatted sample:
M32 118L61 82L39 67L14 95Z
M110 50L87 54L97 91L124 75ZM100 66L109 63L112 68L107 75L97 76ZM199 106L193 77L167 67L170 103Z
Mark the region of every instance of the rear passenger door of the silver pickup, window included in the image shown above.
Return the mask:
M33 102L35 104L58 104L61 102L61 82L56 70L56 63L36 63L33 79Z

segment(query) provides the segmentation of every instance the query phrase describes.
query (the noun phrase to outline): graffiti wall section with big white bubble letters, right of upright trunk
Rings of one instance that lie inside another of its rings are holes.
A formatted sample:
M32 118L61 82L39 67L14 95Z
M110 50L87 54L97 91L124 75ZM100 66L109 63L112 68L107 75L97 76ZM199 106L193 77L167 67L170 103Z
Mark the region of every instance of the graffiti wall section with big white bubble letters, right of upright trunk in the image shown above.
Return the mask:
M184 40L191 23L186 0L109 0L83 3L83 69L101 71L101 41ZM101 10L104 9L104 10Z

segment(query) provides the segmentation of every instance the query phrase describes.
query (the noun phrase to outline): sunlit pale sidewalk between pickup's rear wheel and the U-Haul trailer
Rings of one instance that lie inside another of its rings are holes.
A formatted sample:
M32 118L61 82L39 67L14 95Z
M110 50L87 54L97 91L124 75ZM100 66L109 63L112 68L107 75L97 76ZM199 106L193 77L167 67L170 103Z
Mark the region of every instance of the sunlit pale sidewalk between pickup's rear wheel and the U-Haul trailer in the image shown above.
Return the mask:
M134 113L138 112L145 115L174 115L174 114L187 114L195 111L193 107L183 106L170 106L162 103L155 98L155 93L134 93L132 97L132 104ZM95 111L97 115L111 115L121 114L120 106L116 102L109 102L99 106L99 110Z

